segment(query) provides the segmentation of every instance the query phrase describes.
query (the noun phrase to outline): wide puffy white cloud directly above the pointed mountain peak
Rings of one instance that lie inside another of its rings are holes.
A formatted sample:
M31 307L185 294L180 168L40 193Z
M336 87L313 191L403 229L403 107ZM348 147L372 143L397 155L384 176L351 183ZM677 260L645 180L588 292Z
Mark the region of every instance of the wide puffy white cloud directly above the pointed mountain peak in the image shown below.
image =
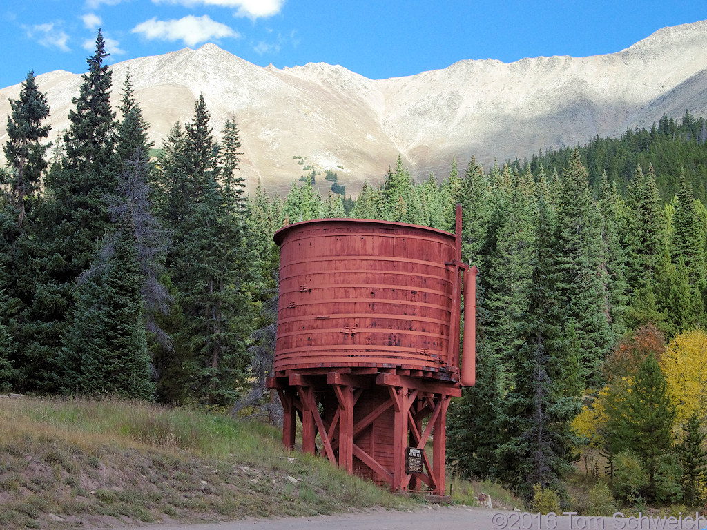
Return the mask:
M226 24L211 20L207 15L189 15L179 20L157 20L153 17L136 25L132 33L142 33L149 40L182 40L187 46L222 37L240 37L240 33Z

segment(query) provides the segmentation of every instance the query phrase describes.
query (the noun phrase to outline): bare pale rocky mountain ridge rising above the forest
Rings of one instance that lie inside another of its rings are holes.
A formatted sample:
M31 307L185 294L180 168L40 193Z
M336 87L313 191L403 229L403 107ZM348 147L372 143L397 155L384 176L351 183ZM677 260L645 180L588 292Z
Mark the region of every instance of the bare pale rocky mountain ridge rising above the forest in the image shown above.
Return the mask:
M127 71L159 147L187 122L199 93L218 134L233 115L248 187L286 192L305 165L334 170L347 192L380 182L400 153L421 179L452 156L488 166L547 147L650 126L663 113L707 115L707 20L663 28L614 54L465 60L415 76L371 80L329 64L262 68L207 44L113 66L115 103ZM28 69L31 65L28 65ZM53 140L66 129L79 74L37 76L52 107ZM0 90L0 116L19 86ZM5 119L0 142L6 141ZM297 165L293 157L307 157ZM323 179L322 179L323 182Z

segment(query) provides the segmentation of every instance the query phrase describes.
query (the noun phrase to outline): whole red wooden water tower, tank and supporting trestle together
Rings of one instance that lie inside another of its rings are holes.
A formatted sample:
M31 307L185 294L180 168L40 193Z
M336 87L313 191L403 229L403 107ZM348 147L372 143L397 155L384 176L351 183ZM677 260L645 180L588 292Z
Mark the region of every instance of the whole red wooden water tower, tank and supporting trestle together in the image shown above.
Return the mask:
M287 447L299 418L303 451L321 451L395 491L444 495L446 411L462 386L460 230L457 208L456 235L360 219L276 232L280 292L268 385L284 407ZM410 469L409 449L421 449L421 466Z

